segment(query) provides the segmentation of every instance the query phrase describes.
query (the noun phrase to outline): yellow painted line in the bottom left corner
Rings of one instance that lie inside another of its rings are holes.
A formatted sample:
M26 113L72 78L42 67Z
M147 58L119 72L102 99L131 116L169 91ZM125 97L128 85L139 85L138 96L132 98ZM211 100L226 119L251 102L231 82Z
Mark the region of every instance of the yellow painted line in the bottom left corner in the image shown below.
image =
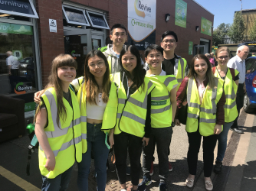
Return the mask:
M15 173L11 173L9 170L6 170L4 167L0 166L0 174L4 176L6 179L10 180L12 183L15 183L17 186L20 186L21 189L25 189L27 191L40 191L38 187L34 186L31 183L28 183L26 180L21 179L21 177L17 176Z

